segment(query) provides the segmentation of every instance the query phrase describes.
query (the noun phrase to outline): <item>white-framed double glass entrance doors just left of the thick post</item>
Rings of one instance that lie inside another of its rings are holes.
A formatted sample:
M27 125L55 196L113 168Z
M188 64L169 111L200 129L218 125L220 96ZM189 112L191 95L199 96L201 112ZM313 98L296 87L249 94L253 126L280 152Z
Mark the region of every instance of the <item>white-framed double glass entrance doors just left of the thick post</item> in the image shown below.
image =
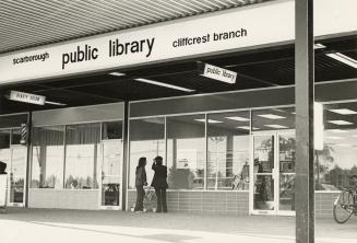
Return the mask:
M252 215L295 215L295 130L253 132Z

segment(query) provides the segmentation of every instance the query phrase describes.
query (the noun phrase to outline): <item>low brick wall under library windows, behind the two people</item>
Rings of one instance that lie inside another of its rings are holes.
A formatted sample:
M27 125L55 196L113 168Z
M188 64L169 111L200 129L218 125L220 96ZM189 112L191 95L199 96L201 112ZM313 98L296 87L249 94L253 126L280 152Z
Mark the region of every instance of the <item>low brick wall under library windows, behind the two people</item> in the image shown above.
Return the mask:
M128 192L128 208L135 202L136 192ZM169 211L248 215L248 192L168 190Z

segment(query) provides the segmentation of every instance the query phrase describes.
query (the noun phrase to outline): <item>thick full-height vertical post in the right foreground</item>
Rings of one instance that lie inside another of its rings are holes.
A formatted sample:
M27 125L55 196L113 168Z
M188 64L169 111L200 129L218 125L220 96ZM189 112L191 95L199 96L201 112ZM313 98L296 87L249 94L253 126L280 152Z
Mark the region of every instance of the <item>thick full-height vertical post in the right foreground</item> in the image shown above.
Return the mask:
M314 242L313 0L295 0L296 242Z

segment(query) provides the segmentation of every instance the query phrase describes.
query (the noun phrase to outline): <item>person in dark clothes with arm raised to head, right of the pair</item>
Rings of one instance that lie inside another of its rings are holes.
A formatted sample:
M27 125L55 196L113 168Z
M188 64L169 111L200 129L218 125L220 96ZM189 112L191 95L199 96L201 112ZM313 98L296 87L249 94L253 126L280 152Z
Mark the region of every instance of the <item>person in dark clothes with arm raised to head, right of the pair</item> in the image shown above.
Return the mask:
M168 187L166 177L167 177L167 167L163 165L163 158L156 157L152 169L155 171L152 186L155 188L157 197L157 210L156 212L167 212L166 204L166 189Z

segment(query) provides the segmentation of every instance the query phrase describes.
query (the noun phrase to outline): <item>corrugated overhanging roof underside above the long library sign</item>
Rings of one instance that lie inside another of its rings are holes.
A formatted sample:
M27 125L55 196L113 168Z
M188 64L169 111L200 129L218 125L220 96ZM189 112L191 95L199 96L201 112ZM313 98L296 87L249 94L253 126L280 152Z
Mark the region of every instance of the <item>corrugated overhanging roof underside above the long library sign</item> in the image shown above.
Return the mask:
M0 54L264 1L0 1Z

